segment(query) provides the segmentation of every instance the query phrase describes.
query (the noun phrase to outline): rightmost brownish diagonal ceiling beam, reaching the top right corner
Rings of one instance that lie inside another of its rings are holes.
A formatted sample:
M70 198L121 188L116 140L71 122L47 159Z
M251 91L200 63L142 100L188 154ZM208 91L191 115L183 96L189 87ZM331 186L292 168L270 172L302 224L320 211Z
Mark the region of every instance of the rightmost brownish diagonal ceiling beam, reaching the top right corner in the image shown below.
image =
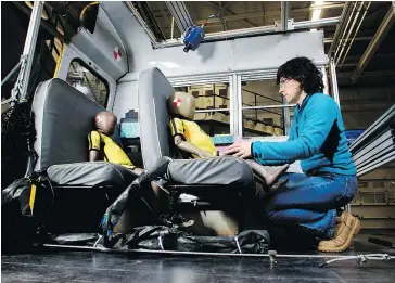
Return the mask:
M354 69L351 80L353 83L357 82L359 76L362 74L364 69L369 64L370 60L373 57L375 51L379 49L381 42L384 40L386 34L390 31L392 25L395 22L395 2L392 2L392 7L390 8L388 12L386 13L383 22L381 23L380 27L378 28L373 39L370 41L368 48L366 49L364 55L359 60L358 65Z

